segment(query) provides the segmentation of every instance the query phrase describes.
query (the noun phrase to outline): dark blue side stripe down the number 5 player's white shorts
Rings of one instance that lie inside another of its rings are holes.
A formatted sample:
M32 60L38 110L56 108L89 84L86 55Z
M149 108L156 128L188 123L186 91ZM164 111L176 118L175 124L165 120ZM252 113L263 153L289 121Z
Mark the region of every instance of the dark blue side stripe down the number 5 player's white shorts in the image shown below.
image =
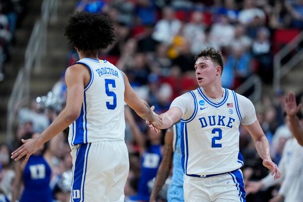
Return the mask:
M80 191L80 197L75 198L72 196L74 202L80 202L82 200L83 195L81 194L81 188L82 188L82 177L84 174L84 167L85 167L85 153L86 153L87 144L81 144L78 148L78 154L76 156L76 162L75 162L75 169L74 169L74 182L72 185L72 193L73 190L79 190Z

